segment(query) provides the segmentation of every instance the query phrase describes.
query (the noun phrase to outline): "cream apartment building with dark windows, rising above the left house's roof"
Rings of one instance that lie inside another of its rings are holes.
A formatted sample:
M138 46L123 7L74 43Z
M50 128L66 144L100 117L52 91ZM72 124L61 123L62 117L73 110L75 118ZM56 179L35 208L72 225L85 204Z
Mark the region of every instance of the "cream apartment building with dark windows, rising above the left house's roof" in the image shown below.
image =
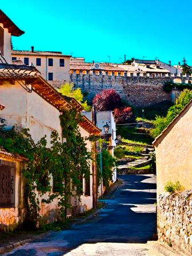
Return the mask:
M11 51L12 63L36 67L43 78L55 87L59 88L63 83L70 80L70 55L62 54L61 51L36 51L31 46L31 51Z

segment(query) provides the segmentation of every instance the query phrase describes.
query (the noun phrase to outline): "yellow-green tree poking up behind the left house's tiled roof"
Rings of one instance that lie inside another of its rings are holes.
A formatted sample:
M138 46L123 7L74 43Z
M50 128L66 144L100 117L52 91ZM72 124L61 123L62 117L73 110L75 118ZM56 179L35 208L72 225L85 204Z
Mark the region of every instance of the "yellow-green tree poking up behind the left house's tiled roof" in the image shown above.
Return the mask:
M65 96L73 97L81 103L83 106L83 109L86 111L90 111L91 107L87 105L87 101L84 101L83 98L83 93L80 88L74 89L73 83L65 83L65 85L62 85L61 88L59 89L59 93Z

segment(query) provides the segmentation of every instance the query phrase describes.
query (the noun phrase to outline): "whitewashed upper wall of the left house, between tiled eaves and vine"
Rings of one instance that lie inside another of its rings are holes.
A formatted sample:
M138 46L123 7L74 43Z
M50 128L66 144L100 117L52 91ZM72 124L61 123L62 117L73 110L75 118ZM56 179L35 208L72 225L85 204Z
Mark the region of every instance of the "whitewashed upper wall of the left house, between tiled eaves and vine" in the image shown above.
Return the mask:
M15 85L5 82L0 86L0 102L6 106L1 111L6 124L13 126L16 123L19 129L29 128L35 142L46 135L50 146L52 130L61 137L59 111L34 91L27 93L17 82Z

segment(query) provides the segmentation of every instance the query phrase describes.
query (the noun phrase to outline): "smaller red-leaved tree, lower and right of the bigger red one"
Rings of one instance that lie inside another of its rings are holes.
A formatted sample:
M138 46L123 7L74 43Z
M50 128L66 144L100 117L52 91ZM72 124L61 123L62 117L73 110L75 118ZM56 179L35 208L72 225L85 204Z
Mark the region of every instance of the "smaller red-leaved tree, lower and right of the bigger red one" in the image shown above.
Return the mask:
M121 107L114 109L114 117L116 123L134 123L135 116L131 107Z

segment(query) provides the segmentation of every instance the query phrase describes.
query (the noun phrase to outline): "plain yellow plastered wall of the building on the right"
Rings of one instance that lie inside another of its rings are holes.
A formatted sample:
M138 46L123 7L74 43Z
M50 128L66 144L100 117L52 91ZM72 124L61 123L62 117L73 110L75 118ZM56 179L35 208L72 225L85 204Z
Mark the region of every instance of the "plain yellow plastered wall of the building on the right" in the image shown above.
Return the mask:
M165 192L165 184L179 181L192 189L192 107L178 120L159 145L155 146L157 194Z

